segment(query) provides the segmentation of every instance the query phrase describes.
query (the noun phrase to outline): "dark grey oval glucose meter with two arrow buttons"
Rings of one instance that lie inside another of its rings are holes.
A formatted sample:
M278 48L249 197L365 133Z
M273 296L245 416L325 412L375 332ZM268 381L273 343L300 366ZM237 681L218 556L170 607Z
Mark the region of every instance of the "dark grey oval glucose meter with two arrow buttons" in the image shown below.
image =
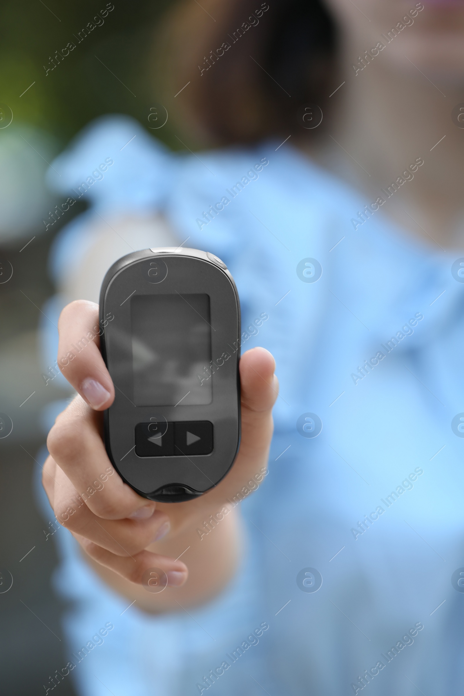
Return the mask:
M234 279L205 251L136 251L106 273L99 314L115 386L104 412L111 463L150 500L200 496L227 473L239 447Z

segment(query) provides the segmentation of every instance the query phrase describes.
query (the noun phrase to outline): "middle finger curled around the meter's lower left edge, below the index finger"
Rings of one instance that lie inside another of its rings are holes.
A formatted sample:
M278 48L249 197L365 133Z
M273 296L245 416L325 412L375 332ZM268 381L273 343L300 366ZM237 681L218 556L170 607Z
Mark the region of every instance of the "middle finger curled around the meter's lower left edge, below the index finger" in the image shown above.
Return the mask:
M70 507L85 503L104 519L150 517L156 503L125 484L108 459L99 432L101 418L78 396L49 432L47 448L51 457L76 491L74 497L70 496Z

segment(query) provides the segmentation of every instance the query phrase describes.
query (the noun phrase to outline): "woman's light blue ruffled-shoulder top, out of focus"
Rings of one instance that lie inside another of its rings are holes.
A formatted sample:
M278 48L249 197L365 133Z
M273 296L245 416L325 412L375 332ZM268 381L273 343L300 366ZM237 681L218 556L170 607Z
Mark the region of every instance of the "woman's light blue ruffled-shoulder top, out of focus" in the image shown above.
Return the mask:
M242 503L246 554L211 603L125 610L56 533L76 665L65 678L86 696L461 693L464 593L451 576L464 567L464 285L451 264L464 253L408 239L388 200L355 230L369 201L288 143L173 155L109 117L58 157L51 185L75 197L107 157L90 210L58 237L54 277L79 265L96 212L161 212L185 246L230 268L242 350L273 353L280 396L269 475Z

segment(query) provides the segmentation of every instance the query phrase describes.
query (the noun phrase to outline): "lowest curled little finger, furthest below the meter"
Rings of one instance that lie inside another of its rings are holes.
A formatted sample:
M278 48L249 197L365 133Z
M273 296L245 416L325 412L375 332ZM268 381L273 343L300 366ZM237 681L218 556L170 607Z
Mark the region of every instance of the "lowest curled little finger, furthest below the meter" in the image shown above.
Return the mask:
M182 561L173 560L167 556L160 556L157 553L150 551L141 551L134 558L116 556L105 548L93 544L92 541L83 539L75 535L79 544L84 551L100 565L111 569L118 575L122 576L131 583L142 585L145 578L145 571L152 569L160 569L166 573L168 585L171 587L179 587L184 585L189 571ZM162 580L163 578L161 578ZM165 580L166 582L166 580Z

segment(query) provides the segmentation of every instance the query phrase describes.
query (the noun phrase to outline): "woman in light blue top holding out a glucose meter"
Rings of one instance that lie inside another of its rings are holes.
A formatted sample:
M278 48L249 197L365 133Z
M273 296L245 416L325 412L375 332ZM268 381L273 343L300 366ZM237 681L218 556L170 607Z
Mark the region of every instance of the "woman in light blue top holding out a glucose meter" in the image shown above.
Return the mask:
M461 686L463 33L453 1L182 7L164 34L168 112L184 100L191 134L231 146L172 155L111 117L54 163L54 185L87 182L92 203L52 261L47 316L85 301L61 315L58 364L95 325L113 260L184 244L225 260L242 352L269 349L280 380L277 396L269 353L244 352L230 475L153 510L104 452L97 339L74 351L80 396L44 485L76 540L57 535L79 693ZM145 590L150 567L164 592Z

